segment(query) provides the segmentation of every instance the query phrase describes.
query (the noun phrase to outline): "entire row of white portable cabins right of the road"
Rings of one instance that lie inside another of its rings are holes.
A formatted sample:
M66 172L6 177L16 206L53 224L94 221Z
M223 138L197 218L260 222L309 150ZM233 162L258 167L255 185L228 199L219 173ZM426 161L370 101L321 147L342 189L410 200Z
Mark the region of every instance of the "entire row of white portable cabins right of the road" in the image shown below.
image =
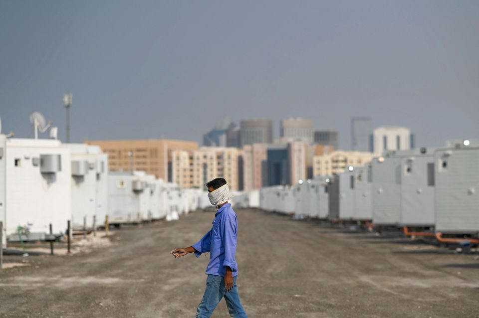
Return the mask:
M260 207L298 217L479 232L479 140L387 151L344 173L260 190Z

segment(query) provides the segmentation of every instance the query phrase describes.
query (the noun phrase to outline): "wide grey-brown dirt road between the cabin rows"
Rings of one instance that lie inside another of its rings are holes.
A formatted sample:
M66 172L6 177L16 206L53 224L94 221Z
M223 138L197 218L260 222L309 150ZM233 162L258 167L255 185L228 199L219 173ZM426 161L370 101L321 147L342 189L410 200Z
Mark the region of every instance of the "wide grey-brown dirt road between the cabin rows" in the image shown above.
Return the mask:
M238 283L250 318L479 317L478 254L237 214ZM28 267L0 271L0 317L192 318L209 256L169 252L199 240L213 218L195 212L116 231L111 246L89 253L31 256ZM224 301L213 317L229 317Z

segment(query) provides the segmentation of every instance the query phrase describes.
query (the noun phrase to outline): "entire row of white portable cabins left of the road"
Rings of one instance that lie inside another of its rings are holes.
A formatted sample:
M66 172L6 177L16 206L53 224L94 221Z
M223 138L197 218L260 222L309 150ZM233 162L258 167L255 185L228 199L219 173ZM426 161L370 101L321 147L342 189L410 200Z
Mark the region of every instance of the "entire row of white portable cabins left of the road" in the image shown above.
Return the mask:
M19 230L42 240L49 233L104 224L167 218L204 207L198 189L181 189L143 171L112 172L97 146L0 135L0 221L3 240Z

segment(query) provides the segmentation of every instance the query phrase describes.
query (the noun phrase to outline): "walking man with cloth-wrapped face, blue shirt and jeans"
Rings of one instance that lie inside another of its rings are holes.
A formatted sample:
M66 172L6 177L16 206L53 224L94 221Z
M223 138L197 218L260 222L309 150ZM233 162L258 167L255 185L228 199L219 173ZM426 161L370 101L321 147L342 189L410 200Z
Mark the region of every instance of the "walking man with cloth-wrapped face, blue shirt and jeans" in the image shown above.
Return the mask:
M238 219L231 207L230 188L224 178L216 178L206 184L211 204L218 210L215 214L212 229L193 246L177 248L171 251L175 257L195 253L210 252L210 263L206 268L208 278L203 299L198 305L196 318L209 318L216 306L225 297L230 316L247 318L240 302L238 286L238 264L235 260Z

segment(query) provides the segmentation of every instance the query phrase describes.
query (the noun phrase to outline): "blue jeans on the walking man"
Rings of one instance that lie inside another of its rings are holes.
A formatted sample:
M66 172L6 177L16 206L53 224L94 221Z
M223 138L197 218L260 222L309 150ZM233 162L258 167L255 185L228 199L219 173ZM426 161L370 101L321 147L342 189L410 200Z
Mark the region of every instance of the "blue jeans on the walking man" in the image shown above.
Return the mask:
M196 318L209 318L213 314L216 306L221 299L225 297L226 306L230 312L230 316L234 318L247 318L240 302L240 294L238 293L238 285L236 285L236 278L233 277L233 288L226 291L225 279L223 276L208 274L206 280L206 290L203 299L198 305Z

